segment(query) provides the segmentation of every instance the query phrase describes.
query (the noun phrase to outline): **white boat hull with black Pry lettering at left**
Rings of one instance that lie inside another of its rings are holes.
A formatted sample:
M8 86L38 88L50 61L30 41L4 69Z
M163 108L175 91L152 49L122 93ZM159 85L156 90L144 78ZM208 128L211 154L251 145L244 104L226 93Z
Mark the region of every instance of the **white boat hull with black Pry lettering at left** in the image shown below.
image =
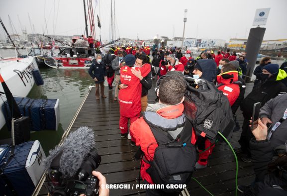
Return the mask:
M0 74L14 97L26 97L29 94L35 84L32 74L34 69L38 69L34 57L19 59L18 62L14 58L0 60ZM0 92L4 92L2 85L0 85ZM6 96L1 95L0 128L5 124L2 113L2 105L5 100Z

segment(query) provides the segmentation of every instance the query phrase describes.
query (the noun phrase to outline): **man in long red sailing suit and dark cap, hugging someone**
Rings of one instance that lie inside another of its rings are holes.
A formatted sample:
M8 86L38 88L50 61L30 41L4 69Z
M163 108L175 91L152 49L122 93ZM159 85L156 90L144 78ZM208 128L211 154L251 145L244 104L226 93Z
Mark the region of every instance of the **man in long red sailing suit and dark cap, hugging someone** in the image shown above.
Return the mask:
M119 85L119 128L121 132L121 138L126 138L128 135L128 119L130 124L135 121L141 111L141 92L142 85L140 80L132 73L132 69L140 71L142 77L146 77L151 71L149 64L144 64L142 67L134 67L135 57L132 54L128 54L124 57L123 61L125 66L120 68L120 82ZM131 145L134 146L134 138L131 138Z

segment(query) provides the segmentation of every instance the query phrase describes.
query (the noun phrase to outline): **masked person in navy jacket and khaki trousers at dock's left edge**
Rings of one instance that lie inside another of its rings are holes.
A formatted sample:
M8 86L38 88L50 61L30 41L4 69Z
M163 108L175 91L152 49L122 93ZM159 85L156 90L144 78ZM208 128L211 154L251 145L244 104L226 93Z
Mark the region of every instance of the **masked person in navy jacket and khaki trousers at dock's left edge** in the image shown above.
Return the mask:
M100 86L100 95L102 98L106 98L104 95L104 86L103 82L106 78L106 70L103 62L101 61L101 55L97 54L96 59L93 59L93 63L89 68L89 74L93 78L96 84L96 100L99 99L99 86Z

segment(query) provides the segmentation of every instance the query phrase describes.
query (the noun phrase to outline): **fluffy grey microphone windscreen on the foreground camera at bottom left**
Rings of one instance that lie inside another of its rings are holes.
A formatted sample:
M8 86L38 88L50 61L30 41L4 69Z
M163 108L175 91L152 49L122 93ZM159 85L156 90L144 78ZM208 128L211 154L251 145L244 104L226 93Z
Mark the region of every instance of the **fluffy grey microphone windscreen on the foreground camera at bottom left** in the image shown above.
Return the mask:
M87 126L80 127L70 133L61 146L56 146L55 149L50 150L49 156L45 160L46 168L50 168L54 158L62 152L59 171L64 178L70 178L76 174L84 158L95 145L93 130Z

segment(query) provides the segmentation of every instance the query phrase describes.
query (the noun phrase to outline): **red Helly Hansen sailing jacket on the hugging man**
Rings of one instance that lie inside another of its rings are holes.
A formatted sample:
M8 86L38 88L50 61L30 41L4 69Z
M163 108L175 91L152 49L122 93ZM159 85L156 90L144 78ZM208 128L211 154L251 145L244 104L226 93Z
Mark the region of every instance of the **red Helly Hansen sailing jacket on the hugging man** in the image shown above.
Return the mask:
M120 89L118 93L119 113L126 117L135 117L141 111L141 91L140 80L132 74L131 69L140 70L142 77L146 77L151 71L150 64L144 64L142 67L120 68L120 82L128 87Z

